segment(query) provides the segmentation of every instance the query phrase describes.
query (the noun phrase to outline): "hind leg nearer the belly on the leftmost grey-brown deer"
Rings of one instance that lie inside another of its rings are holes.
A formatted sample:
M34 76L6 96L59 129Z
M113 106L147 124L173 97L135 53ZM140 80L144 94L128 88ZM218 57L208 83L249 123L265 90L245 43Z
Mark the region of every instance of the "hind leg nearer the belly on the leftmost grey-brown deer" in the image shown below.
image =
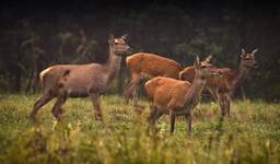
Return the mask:
M56 101L56 103L52 107L52 110L51 110L52 115L56 117L56 119L58 121L61 120L62 105L66 103L66 101L67 101L66 92L58 94L57 101Z

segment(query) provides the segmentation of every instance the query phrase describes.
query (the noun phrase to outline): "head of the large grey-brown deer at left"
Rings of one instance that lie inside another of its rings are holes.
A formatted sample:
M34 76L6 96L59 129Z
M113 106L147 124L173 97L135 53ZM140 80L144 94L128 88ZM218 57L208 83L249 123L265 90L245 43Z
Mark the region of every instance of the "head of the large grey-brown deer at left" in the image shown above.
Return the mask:
M131 48L126 44L127 34L119 38L115 38L114 35L109 35L108 43L110 51L117 56L122 56L131 52Z

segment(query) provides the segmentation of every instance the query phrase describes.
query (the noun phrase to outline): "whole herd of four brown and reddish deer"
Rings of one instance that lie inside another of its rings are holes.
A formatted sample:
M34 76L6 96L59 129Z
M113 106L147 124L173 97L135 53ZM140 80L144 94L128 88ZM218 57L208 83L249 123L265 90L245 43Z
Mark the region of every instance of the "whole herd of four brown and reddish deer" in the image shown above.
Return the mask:
M43 95L34 104L31 119L40 107L56 97L52 114L57 120L61 119L62 105L68 97L89 96L93 103L95 118L102 120L100 97L114 77L120 70L121 57L130 54L126 44L127 35L115 38L109 35L109 55L105 63L89 65L57 65L42 71L39 77L43 83ZM153 54L138 52L126 58L126 65L131 74L131 81L125 89L126 102L133 99L137 105L138 89L145 79L144 89L151 101L150 127L155 126L156 119L163 114L170 115L171 133L174 131L175 117L184 115L187 121L187 133L191 133L191 113L198 104L202 90L207 90L219 103L222 117L230 117L230 103L234 90L248 75L253 68L258 67L255 59L257 49L246 54L242 49L240 67L236 70L215 68L210 63L211 56L200 61L197 57L194 66L183 69L172 59Z

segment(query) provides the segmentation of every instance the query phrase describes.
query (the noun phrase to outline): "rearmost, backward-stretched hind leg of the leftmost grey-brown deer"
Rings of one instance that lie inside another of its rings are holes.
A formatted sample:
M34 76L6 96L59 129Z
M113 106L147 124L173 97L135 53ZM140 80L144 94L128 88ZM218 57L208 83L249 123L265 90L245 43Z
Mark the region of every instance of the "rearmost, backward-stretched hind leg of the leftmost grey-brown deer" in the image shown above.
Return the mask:
M30 114L30 118L35 121L36 118L36 114L39 110L40 107L43 107L45 104L47 104L49 101L51 101L54 97L54 95L51 94L51 92L46 92L43 94L43 96L36 101L36 103L34 104L33 110Z

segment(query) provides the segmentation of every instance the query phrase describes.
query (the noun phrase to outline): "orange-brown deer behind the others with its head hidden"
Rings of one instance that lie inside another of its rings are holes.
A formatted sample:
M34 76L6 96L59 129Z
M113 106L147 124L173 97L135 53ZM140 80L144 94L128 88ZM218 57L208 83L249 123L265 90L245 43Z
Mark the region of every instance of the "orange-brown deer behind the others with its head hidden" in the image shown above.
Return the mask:
M175 60L161 57L155 54L137 52L126 58L126 66L130 72L130 82L125 87L125 102L133 99L136 106L139 85L144 81L154 77L168 77L173 79L179 78L182 66Z

